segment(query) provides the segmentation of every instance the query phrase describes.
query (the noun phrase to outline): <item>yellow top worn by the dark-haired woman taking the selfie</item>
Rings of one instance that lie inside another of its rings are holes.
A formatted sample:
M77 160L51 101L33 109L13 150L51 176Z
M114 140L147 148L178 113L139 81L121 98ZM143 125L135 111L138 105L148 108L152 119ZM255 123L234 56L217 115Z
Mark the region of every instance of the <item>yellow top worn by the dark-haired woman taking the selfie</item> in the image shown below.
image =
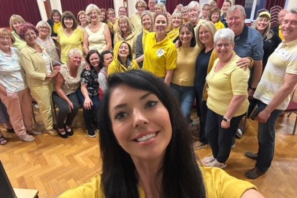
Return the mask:
M207 198L241 198L249 189L257 188L251 183L230 176L220 168L201 167ZM90 183L68 190L58 198L105 198L101 175ZM145 198L145 192L138 187L139 197Z

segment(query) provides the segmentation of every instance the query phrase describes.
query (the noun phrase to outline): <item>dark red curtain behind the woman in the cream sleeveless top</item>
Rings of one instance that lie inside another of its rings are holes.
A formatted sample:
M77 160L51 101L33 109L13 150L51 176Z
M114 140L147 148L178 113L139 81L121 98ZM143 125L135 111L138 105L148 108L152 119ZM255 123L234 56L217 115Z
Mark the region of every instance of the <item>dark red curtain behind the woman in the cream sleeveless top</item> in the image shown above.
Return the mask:
M113 0L61 0L62 10L71 11L74 16L81 10L86 10L89 4L95 4L99 8L114 9Z

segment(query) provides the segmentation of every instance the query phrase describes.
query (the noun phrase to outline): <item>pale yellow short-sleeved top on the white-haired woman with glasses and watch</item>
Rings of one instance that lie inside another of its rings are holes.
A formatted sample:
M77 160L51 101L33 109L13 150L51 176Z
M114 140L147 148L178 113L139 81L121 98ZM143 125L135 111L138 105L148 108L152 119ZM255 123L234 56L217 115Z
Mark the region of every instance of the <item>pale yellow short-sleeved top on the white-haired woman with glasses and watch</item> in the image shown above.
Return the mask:
M236 65L240 59L235 55L229 63L227 63L221 70L214 72L219 61L217 58L211 71L206 76L206 83L208 85L207 107L219 115L225 115L231 99L234 95L245 95L246 99L242 106L234 114L234 117L242 115L247 112L247 82L249 78L249 69L244 70Z

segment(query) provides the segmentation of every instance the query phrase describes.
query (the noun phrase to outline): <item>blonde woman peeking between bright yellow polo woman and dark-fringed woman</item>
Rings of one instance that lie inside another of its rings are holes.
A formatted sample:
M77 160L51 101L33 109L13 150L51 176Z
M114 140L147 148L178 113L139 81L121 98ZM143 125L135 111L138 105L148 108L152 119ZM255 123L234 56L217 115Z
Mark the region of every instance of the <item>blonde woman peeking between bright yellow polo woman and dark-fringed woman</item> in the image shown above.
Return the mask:
M173 43L179 39L180 27L183 24L183 14L180 11L175 11L171 17L172 30L168 33L168 37Z

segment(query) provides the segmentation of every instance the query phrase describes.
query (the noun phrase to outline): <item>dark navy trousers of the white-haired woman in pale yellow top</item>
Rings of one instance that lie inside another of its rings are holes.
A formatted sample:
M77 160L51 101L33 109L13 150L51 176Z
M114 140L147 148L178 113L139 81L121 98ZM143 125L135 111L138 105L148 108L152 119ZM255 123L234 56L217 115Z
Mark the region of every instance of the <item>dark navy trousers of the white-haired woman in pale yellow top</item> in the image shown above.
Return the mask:
M225 163L229 158L232 138L235 136L239 122L244 115L233 117L230 121L230 127L223 129L221 127L223 116L210 109L207 110L205 136L212 155L218 162Z

